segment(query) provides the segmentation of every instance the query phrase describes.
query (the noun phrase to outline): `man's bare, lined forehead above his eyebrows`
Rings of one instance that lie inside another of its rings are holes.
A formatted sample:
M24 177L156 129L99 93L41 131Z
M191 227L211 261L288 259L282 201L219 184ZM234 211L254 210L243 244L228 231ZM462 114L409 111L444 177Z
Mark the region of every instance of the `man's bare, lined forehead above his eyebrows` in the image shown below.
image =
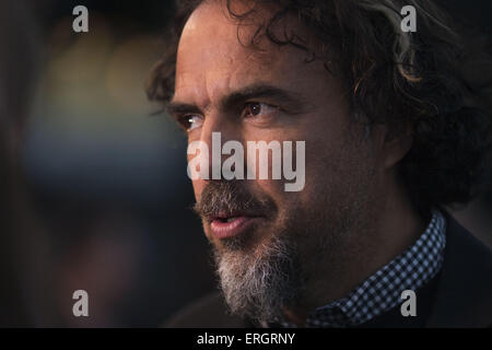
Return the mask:
M260 36L249 45L258 24L271 15L255 13L238 25L220 1L200 5L185 25L178 46L175 100L199 106L213 104L242 86L266 83L279 88L309 89L315 77L327 79L319 61L306 63L308 52L292 45L280 46ZM296 34L303 32L294 20Z

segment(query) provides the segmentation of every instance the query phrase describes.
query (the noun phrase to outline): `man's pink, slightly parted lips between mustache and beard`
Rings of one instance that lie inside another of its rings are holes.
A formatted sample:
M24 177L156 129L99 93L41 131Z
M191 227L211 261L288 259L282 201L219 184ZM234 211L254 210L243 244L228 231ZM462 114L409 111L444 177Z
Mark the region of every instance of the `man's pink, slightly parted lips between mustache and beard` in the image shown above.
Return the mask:
M244 233L262 217L246 213L219 214L209 218L212 234L219 240L230 238Z

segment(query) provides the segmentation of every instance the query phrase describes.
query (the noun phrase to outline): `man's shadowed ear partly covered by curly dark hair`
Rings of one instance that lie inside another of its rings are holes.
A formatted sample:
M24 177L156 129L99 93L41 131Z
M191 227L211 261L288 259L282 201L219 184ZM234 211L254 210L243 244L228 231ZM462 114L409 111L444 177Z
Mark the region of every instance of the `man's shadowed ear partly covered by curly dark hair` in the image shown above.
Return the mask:
M385 168L394 167L400 162L413 145L413 127L408 125L405 129L391 132L385 127L382 143Z

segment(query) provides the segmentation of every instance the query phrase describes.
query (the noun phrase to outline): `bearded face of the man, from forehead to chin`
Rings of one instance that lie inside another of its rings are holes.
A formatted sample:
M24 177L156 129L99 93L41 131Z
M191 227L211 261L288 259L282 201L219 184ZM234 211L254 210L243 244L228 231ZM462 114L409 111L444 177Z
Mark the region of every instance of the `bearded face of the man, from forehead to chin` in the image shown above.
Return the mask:
M266 37L260 49L245 45L268 11L241 26L226 13L210 1L187 22L169 110L188 128L189 142L204 141L210 151L219 131L222 143L236 140L245 150L247 141L305 141L301 191L285 191L282 179L192 180L227 302L243 315L272 318L313 284L321 259L331 264L325 276L335 278L356 250L364 212L375 203L378 159L321 61L306 62L306 51ZM261 308L270 311L258 315Z

